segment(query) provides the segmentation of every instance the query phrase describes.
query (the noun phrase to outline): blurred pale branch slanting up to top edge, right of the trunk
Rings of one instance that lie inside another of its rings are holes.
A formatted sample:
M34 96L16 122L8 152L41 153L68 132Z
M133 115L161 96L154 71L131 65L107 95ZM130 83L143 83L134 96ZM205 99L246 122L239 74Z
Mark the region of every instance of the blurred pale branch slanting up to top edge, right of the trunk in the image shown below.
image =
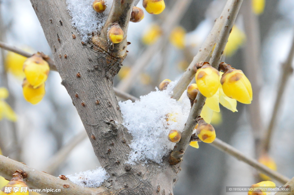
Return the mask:
M185 13L191 0L177 0L171 11L163 21L163 36L156 43L147 47L142 55L136 60L130 72L118 83L117 88L121 91L129 91L140 72L148 65L152 57L161 50L163 45L168 41L169 35L173 28L179 23Z

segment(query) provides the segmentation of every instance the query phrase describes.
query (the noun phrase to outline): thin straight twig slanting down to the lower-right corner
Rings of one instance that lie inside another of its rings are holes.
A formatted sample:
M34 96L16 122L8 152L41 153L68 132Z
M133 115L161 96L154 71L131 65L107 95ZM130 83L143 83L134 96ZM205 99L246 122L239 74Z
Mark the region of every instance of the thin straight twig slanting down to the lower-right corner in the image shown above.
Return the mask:
M221 150L238 160L245 162L246 164L254 167L258 171L266 174L267 176L277 180L278 182L284 184L288 182L290 179L288 177L283 176L282 174L268 168L267 166L259 163L257 160L245 156L242 152L234 148L233 146L223 142L222 140L216 138L212 143L210 143L213 147L216 147L218 150Z

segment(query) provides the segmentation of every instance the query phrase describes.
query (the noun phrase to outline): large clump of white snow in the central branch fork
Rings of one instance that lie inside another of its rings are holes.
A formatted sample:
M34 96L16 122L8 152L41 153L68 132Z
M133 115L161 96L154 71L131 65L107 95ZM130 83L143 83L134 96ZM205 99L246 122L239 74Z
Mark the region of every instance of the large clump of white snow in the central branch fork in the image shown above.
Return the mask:
M181 101L171 98L175 84L171 82L163 91L156 88L134 103L131 100L119 102L123 125L133 136L128 163L146 163L147 160L161 163L175 145L168 141L168 133L183 130L191 108L187 96Z

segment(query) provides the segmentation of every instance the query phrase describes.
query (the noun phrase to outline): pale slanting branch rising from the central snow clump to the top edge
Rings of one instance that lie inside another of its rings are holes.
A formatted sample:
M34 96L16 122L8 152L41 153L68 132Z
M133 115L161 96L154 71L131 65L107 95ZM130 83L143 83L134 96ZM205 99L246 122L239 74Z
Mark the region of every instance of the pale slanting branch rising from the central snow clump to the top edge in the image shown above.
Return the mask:
M213 25L213 28L211 29L209 35L207 36L205 42L199 49L196 56L193 58L193 61L190 63L189 67L186 69L186 71L183 73L182 77L179 79L176 86L173 88L173 98L178 100L180 99L181 95L187 89L189 83L195 76L195 71L193 69L193 66L197 62L205 61L208 55L210 54L213 46L215 45L216 41L218 40L218 37L220 35L220 30L223 27L223 24L225 22L225 19L228 17L229 12L228 10L232 9L233 7L233 0L228 0L225 4L225 7L220 14L220 17L215 20L215 23Z

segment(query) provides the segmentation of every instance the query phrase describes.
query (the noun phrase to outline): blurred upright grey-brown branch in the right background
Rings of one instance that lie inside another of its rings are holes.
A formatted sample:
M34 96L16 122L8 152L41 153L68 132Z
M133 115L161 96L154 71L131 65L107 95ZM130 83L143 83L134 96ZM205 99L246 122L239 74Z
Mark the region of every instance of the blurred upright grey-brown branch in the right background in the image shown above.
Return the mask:
M242 9L243 8L243 9ZM263 132L263 125L260 116L260 101L259 94L262 84L262 74L260 70L260 35L258 16L252 12L252 1L244 1L241 8L244 16L244 25L246 33L246 47L244 50L245 57L245 71L248 79L252 85L254 99L249 104L250 125L254 137L255 158L258 159L260 155L260 141L261 132Z

